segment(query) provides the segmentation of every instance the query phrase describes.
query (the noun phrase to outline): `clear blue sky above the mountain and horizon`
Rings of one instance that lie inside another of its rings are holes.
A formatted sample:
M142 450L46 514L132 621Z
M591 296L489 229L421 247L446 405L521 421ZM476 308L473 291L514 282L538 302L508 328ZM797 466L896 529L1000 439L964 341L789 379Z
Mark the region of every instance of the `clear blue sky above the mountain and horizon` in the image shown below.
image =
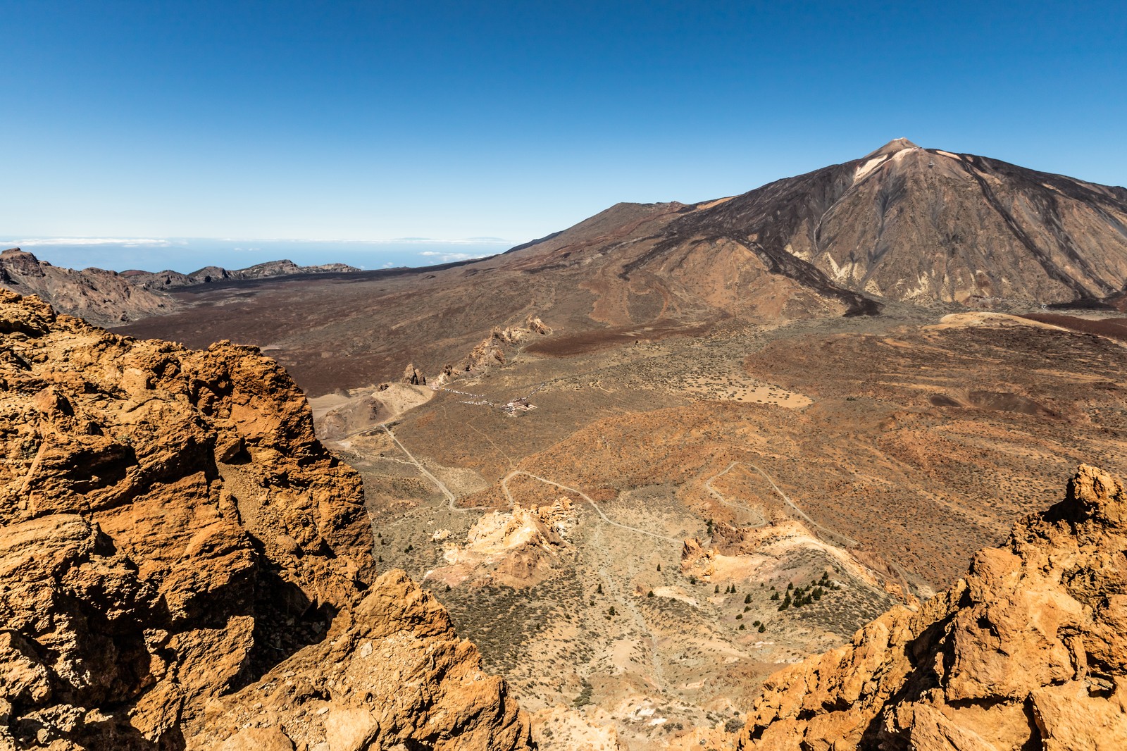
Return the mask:
M180 268L487 251L899 136L1127 182L1121 3L0 0L0 241Z

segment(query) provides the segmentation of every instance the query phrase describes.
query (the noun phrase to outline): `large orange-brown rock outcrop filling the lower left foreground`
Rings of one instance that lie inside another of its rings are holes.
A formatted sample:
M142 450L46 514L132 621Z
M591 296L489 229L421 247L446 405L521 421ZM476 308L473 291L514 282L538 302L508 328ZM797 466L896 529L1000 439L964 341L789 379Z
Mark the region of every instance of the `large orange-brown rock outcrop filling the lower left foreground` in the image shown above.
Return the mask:
M523 749L255 348L0 291L0 749Z

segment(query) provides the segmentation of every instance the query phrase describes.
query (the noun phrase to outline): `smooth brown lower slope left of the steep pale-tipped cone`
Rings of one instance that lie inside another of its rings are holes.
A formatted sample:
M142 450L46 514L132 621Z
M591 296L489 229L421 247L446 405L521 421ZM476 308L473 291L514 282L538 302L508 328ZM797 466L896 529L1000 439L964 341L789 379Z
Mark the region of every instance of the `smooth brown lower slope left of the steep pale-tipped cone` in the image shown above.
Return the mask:
M695 335L734 317L778 321L867 304L773 271L728 240L694 240L684 257L631 268L686 209L695 211L619 204L549 239L445 267L195 289L174 295L183 312L119 330L189 346L224 337L256 344L321 395L397 379L408 363L433 378L494 328L530 316L598 347Z

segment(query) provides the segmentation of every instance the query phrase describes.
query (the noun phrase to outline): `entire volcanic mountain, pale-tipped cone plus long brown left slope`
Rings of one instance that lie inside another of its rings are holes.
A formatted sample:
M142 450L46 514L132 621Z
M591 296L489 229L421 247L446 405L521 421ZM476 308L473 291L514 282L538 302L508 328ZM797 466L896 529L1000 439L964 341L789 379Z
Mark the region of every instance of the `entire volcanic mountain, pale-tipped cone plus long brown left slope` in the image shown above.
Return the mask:
M126 330L269 346L323 394L409 362L456 370L530 315L574 350L900 301L1022 312L1125 284L1127 189L900 139L738 196L620 203L481 260L194 289L175 298L192 310Z

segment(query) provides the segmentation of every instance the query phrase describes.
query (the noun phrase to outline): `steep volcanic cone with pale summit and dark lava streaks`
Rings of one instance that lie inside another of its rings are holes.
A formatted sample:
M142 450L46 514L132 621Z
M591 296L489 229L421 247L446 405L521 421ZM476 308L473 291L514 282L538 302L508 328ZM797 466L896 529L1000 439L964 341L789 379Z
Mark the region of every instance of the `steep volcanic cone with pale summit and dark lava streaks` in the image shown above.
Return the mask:
M1127 189L904 139L694 212L669 235L663 249L724 237L895 300L1065 302L1127 280Z

